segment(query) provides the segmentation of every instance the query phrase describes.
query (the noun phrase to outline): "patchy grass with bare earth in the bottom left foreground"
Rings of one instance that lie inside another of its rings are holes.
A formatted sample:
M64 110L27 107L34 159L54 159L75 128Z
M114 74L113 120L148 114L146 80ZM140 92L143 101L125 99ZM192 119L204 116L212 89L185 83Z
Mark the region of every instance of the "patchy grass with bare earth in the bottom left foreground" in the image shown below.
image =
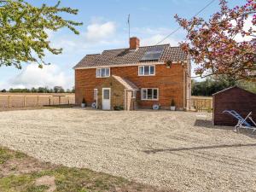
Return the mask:
M0 171L2 192L160 191L150 186L129 182L122 177L43 163L26 154L2 147Z

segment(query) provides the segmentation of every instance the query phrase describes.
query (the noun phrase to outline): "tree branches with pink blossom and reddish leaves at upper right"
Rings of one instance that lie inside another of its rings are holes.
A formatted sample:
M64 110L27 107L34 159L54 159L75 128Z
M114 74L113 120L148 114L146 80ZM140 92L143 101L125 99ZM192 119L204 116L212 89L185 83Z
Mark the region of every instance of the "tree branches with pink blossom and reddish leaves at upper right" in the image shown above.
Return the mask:
M256 1L247 0L245 5L229 9L227 2L220 0L220 7L220 12L208 21L175 16L187 31L188 41L181 47L195 61L195 73L201 77L221 74L255 81L256 31L253 27L246 30L244 26L245 22L256 25ZM249 40L237 41L239 35Z

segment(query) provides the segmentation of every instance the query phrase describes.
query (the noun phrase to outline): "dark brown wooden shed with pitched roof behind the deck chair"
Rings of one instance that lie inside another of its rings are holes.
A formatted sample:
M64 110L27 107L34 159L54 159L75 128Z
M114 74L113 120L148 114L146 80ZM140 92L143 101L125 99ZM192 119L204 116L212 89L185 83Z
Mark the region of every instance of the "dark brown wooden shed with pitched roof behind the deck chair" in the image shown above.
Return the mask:
M221 90L213 96L213 124L234 126L237 120L224 110L235 110L245 118L248 113L253 112L256 120L256 94L234 86Z

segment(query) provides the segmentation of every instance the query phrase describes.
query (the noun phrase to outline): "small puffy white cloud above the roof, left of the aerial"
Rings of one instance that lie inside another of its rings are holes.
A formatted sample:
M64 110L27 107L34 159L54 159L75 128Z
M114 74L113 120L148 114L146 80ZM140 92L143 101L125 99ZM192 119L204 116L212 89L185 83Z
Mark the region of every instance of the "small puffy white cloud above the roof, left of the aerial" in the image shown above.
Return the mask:
M108 21L106 23L92 22L87 26L85 37L88 41L95 42L104 38L111 38L116 32L115 23Z

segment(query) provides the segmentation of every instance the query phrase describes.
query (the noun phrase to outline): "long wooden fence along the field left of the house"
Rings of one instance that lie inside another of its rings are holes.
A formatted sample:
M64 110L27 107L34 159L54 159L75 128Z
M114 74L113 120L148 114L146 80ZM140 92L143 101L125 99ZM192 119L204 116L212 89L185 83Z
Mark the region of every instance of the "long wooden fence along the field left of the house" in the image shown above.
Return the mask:
M74 96L65 95L0 95L0 108L26 108L75 104Z

